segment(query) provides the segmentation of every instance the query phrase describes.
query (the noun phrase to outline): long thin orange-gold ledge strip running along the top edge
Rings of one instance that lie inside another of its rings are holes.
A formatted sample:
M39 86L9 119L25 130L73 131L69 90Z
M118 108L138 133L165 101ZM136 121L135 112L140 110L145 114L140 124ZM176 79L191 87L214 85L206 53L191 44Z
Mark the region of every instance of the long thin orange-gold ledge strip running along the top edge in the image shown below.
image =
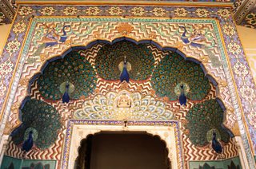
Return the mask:
M159 2L159 1L87 1L87 0L18 0L16 1L18 5L120 5L120 6L212 6L212 7L232 7L234 2Z

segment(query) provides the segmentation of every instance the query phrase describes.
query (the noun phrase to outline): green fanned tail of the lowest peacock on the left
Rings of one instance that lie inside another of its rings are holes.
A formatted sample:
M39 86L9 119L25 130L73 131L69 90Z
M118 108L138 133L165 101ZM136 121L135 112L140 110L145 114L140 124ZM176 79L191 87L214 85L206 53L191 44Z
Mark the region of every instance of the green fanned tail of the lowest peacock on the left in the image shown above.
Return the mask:
M57 140L61 116L54 107L42 100L27 100L20 112L22 124L11 134L15 144L23 142L27 128L36 130L38 137L34 143L40 149L50 147Z

